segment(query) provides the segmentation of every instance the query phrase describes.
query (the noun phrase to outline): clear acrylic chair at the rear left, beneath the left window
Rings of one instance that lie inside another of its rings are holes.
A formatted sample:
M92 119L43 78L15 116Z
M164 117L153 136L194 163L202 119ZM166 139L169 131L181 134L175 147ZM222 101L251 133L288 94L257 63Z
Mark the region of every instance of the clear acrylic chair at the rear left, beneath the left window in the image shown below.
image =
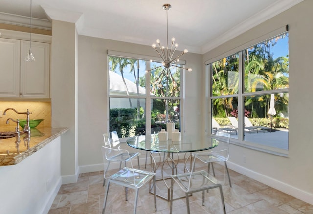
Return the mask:
M104 133L103 134L103 139L104 139L104 145L105 147L108 147L108 148L112 148L112 149L118 149L118 150L121 150L121 145L120 145L120 141L119 141L119 137L118 137L118 134L116 131L112 131L112 132L109 132L109 133ZM118 156L112 156L110 161L114 161L114 162L120 162L119 164L119 168L121 169L122 168L122 162L125 163L125 166L126 166L126 162L127 161L130 161L132 159L134 159L135 157L137 157L137 160L138 160L138 168L140 169L140 164L139 164L139 155L140 153L139 152L136 152L136 153L129 153L129 156L128 154L126 153L119 153ZM103 181L103 186L105 185L105 179Z

